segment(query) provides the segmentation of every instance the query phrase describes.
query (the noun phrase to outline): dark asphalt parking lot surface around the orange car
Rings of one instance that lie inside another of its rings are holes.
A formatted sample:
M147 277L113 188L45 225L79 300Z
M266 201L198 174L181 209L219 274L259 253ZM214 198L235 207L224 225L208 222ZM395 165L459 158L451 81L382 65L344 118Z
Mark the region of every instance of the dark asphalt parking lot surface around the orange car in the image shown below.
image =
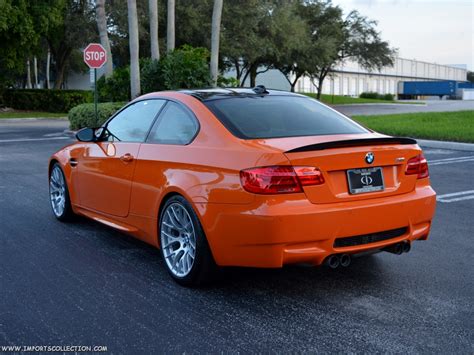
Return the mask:
M347 269L231 269L171 281L154 248L57 222L47 160L64 121L0 120L0 345L136 352L474 352L474 152L425 151L440 196L428 241Z

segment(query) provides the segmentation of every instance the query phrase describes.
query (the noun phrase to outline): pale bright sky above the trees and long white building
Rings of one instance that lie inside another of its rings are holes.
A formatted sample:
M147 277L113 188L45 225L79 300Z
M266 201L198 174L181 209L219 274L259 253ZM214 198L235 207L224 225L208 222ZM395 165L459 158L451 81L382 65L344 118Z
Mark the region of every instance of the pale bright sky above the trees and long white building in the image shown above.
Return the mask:
M378 21L399 56L474 70L474 0L333 0Z

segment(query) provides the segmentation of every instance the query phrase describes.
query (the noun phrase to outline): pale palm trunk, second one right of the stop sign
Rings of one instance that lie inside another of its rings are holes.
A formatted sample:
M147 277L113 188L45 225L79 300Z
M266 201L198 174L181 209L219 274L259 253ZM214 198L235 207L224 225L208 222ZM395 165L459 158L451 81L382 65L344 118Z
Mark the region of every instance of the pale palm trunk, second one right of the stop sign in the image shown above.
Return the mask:
M130 93L132 99L140 95L140 63L138 62L137 1L127 0L128 44L130 46Z

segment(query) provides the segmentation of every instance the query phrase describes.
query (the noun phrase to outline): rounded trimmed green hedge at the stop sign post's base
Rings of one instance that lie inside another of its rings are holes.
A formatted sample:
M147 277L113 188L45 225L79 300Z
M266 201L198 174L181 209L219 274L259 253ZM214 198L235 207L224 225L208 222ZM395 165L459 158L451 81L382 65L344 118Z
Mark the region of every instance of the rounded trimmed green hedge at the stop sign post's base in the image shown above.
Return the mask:
M98 120L95 119L94 104L82 104L72 108L68 113L72 130L84 127L96 128L125 105L124 102L105 102L97 105Z

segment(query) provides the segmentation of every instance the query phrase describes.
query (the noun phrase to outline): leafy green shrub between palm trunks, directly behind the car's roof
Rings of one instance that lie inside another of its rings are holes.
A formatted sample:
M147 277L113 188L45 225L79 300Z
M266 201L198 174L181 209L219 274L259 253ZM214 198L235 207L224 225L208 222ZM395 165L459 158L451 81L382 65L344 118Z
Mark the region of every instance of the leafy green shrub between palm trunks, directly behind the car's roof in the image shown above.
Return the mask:
M206 48L182 46L165 54L159 61L144 63L141 70L143 93L210 85L209 51Z

